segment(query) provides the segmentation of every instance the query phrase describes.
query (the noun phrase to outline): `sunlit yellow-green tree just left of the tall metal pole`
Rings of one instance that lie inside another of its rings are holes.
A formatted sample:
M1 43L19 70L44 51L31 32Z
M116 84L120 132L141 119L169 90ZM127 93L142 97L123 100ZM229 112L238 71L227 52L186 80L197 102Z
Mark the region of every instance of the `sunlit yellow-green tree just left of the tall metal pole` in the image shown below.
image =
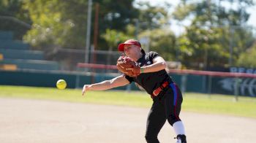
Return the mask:
M24 39L42 48L51 45L81 48L85 45L85 13L83 1L28 0L23 9L29 11L33 21Z

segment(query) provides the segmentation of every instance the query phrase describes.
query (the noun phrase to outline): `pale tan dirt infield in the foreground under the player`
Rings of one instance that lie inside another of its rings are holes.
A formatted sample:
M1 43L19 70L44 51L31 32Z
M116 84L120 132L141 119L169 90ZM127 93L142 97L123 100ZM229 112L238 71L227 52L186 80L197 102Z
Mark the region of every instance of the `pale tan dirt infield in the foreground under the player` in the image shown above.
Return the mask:
M149 109L0 98L1 143L140 143ZM256 120L181 112L189 143L255 142ZM160 142L175 142L166 122Z

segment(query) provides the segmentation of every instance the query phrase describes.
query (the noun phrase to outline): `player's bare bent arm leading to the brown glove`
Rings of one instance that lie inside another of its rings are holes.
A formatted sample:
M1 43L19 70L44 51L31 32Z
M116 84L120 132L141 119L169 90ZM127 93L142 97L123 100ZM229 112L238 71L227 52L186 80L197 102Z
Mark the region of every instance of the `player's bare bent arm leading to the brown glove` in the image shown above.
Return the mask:
M153 58L153 63L151 65L140 67L140 73L161 71L162 69L165 69L165 68L166 68L166 63L164 58L162 58L161 56L157 56Z

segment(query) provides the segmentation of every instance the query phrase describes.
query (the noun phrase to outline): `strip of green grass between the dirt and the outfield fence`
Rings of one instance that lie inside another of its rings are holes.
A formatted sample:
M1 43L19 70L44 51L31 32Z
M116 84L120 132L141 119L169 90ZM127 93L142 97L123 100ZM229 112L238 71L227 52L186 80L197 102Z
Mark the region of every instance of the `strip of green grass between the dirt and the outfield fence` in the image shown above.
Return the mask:
M81 90L56 88L31 88L22 86L0 86L0 97L35 98L93 104L113 104L131 107L151 107L152 99L144 92L89 91L81 96ZM182 109L207 114L225 114L256 118L256 98L208 96L201 93L185 93Z

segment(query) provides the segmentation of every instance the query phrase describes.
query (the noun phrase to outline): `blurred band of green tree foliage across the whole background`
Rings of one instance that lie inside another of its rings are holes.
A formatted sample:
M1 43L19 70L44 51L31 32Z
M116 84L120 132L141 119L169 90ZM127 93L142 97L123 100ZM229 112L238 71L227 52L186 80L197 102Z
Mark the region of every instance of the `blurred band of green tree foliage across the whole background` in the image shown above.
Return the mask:
M181 0L170 15L171 5L151 6L135 0L95 0L92 4L91 44L94 39L95 4L99 4L97 50L117 50L126 39L149 39L144 49L155 50L167 61L181 61L189 69L216 66L253 66L255 36L246 26L246 8L252 0ZM86 46L87 1L84 0L2 0L0 30L12 30L15 37L37 49ZM1 19L4 16L4 20ZM15 20L31 24L31 28ZM173 19L171 19L173 18ZM189 21L185 31L175 36L170 22Z

